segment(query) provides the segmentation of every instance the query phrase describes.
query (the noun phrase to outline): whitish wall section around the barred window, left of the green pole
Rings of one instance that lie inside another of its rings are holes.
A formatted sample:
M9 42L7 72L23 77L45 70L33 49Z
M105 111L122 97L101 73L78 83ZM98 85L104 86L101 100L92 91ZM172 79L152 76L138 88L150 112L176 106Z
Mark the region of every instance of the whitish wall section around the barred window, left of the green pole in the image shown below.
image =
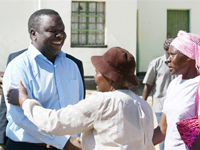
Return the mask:
M83 61L85 76L93 76L95 73L90 61L91 56L102 55L113 46L123 47L136 57L137 1L105 0L105 2L107 48L71 48L71 0L0 0L0 71L5 71L6 60L11 52L29 46L27 22L38 7L54 9L61 15L67 33L63 51Z

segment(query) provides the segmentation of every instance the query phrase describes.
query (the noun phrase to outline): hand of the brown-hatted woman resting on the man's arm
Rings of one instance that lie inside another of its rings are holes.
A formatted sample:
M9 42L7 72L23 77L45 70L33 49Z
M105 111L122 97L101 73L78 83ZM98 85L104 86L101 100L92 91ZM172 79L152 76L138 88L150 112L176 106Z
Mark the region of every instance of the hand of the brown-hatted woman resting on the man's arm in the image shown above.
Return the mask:
M6 99L8 103L20 106L22 108L23 102L28 99L28 94L26 88L19 81L19 88L18 89L10 89L7 91Z

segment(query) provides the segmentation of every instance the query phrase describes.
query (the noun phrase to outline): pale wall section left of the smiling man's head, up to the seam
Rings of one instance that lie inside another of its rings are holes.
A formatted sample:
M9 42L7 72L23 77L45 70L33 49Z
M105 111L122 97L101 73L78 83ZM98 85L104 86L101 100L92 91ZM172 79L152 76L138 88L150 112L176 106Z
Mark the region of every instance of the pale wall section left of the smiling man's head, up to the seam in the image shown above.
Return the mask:
M28 47L27 22L36 9L35 0L0 0L0 71L11 52Z

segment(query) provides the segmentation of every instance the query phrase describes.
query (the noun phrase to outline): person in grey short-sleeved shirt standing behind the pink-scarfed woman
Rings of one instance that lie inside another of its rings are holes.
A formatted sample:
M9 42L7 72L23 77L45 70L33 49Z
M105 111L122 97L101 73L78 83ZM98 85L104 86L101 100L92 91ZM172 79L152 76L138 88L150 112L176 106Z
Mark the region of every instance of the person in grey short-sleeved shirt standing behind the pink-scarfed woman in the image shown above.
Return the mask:
M142 97L147 100L152 93L152 108L156 115L158 124L162 115L163 103L166 98L166 91L169 83L175 76L171 75L167 66L167 58L169 57L169 46L173 38L168 38L163 44L165 54L152 60L149 64L147 73L144 77L144 89ZM164 142L159 144L160 150L164 150Z

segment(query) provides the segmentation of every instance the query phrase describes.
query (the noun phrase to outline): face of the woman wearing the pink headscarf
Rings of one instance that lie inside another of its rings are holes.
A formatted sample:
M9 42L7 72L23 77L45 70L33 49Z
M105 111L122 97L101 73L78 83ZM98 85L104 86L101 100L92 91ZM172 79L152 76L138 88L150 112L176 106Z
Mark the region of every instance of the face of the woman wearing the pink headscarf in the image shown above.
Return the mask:
M169 58L167 59L169 71L172 75L187 74L190 63L189 58L173 46L169 47Z

